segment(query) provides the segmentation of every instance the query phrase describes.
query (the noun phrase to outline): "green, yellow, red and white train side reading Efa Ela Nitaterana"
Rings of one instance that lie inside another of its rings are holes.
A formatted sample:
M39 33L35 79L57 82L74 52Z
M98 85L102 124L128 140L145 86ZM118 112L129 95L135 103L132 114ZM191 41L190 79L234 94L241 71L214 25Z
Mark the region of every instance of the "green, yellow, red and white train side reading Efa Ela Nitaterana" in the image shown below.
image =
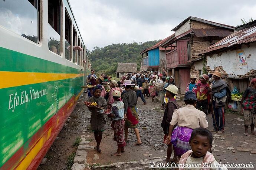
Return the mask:
M0 23L4 40L0 41L0 169L4 170L36 169L83 92L83 68L65 59L65 43L61 55L49 51L47 1L39 2L43 12L38 44ZM65 28L61 31L63 35Z

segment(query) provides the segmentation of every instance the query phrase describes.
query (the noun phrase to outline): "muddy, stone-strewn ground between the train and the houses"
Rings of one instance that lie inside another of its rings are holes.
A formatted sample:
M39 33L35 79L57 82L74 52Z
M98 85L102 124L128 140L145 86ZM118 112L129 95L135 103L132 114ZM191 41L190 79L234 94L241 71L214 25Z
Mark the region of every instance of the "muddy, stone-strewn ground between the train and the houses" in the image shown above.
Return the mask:
M90 130L91 112L85 107L83 102L88 99L84 94L78 102L75 110L70 115L70 121L66 122L55 140L52 147L46 154L46 164L40 164L39 170L66 170L70 169L70 155L76 152L77 147L74 147L76 137L81 135L89 135L90 145L96 146L93 133ZM142 105L142 101L138 99L138 112L140 117L140 136L143 142L140 146L133 146L136 142L136 136L133 130L129 130L129 142L125 147L125 153L121 156L112 157L111 153L115 153L117 149L116 142L113 139L113 130L110 127L111 120L108 118L105 126L105 132L101 142L102 152L89 150L87 163L90 166L98 166L104 164L112 164L116 162L130 162L136 160L145 160L153 157L166 156L166 145L163 144L163 129L160 124L163 119L163 112L157 107L158 102L151 102L151 98L146 99L147 105ZM179 105L184 106L183 101L178 101ZM244 136L243 116L226 113L225 133L213 133L214 145L213 155L218 162L222 163L250 163L256 162L256 136ZM240 118L237 120L237 118ZM208 116L209 129L213 129L211 115ZM240 121L239 121L240 120ZM229 147L233 147L233 149ZM243 151L240 151L243 150ZM98 160L93 160L94 154L99 156ZM68 158L69 157L69 158ZM133 165L134 167L134 165ZM122 168L121 168L122 169ZM228 168L235 169L235 168Z

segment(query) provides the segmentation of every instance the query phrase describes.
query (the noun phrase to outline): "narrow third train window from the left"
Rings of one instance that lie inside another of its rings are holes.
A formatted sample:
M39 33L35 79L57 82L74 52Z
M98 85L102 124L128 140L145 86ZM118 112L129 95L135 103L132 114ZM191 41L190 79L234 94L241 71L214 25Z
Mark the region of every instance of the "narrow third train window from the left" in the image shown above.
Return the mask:
M71 20L67 11L65 12L65 58L71 61L70 57L70 32L71 32Z

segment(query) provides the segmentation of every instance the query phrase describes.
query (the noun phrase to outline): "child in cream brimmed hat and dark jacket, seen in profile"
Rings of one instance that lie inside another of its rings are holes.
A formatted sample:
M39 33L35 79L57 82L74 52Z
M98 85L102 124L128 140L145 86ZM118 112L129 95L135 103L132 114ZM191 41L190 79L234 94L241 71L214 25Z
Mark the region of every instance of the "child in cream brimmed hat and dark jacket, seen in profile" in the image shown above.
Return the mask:
M177 93L178 88L175 85L171 84L167 88L165 88L165 90L166 90L166 97L168 97L170 100L166 104L163 121L161 123L161 126L164 130L164 141L169 133L169 126L170 126L171 118L173 117L173 112L175 109L180 108L180 106L174 99L174 96L178 94ZM169 144L167 144L167 146L168 146L167 147L167 157L165 159L166 163L170 162L171 153L173 152L173 144L169 143ZM174 159L175 159L175 153L174 153Z

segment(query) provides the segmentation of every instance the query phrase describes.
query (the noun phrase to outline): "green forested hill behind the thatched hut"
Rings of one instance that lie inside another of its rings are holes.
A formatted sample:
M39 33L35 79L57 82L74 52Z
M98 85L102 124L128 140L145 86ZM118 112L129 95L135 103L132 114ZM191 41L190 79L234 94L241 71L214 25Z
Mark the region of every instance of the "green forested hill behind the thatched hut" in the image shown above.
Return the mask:
M124 43L112 44L103 48L94 47L92 51L88 51L89 58L92 62L92 68L99 75L105 73L107 75L115 75L118 63L136 62L138 70L142 61L141 51L152 47L161 40L147 41L145 43Z

